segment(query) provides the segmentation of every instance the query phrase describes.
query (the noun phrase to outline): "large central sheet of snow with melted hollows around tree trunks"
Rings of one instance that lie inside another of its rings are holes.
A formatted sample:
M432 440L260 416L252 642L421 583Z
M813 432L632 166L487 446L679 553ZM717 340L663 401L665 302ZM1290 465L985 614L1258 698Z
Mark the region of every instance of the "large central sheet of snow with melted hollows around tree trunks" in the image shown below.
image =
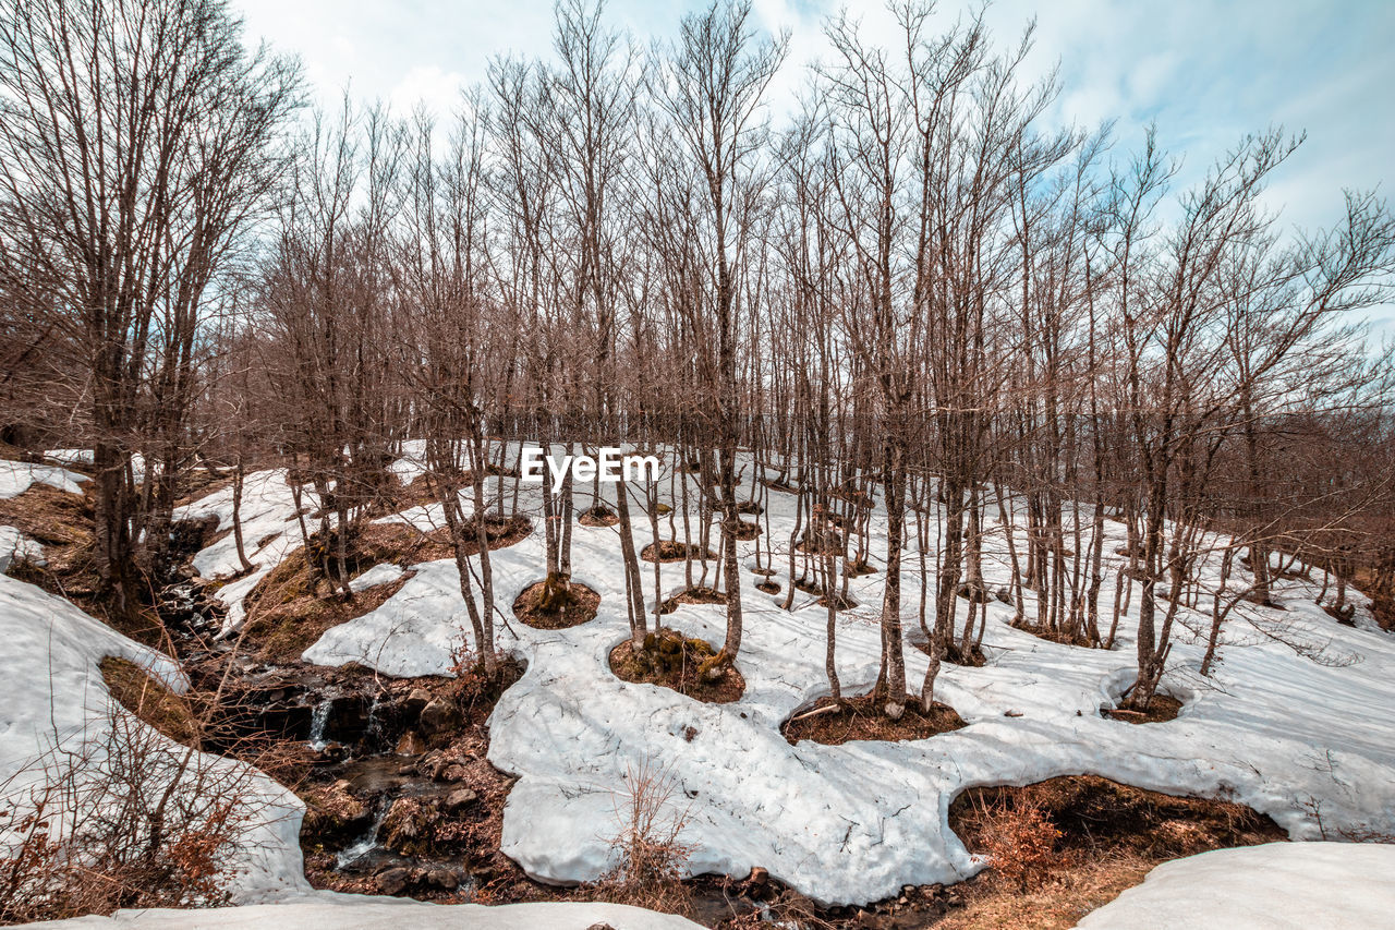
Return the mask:
M745 473L749 482L749 462ZM667 493L665 482L665 500ZM958 792L979 785L1095 774L1237 800L1274 817L1295 839L1395 831L1395 744L1388 739L1395 640L1336 626L1313 603L1317 586L1307 581L1278 584L1275 596L1286 610L1239 609L1211 679L1197 674L1207 617L1182 610L1163 691L1186 707L1168 723L1134 726L1098 714L1131 681L1133 613L1120 624L1117 647L1105 652L1014 630L1011 609L993 602L983 640L988 665L946 667L936 690L970 726L919 741L790 746L781 721L827 688L824 613L812 598L797 595L795 610L785 612L777 598L755 589L756 575L742 573L746 628L738 665L746 691L734 704L700 704L621 681L607 666L610 649L628 631L614 529L573 528L573 578L601 595L596 620L538 631L512 619L513 598L541 580L544 566L536 486L525 486L523 496L534 533L495 552L494 571L499 644L527 660L527 673L495 709L490 761L520 776L505 811L504 852L537 878L585 881L605 869L619 786L644 764L670 772L686 797L693 873L745 876L764 866L826 903L876 901L904 884L974 874L982 863L949 829L947 810ZM579 507L589 503L587 489L578 490ZM770 505L778 553L790 538L794 497L771 493ZM400 518L430 528L438 525L432 510L417 507ZM665 518L663 533L667 525ZM1105 552L1115 563L1112 553L1124 539L1122 526L1112 529ZM876 517L872 535L879 566L884 531ZM647 524L638 526L636 542L649 542ZM752 550L753 543L742 543L742 563ZM1007 581L1004 553L999 528L985 564L990 588ZM908 628L917 627L917 564L912 545ZM787 586L787 556L777 554L776 568L774 580ZM467 641L456 570L449 560L416 570L393 598L325 633L306 658L354 660L389 674L445 673L452 649ZM647 563L643 578L646 598L653 598ZM876 677L880 580L882 573L854 580L851 592L862 606L840 616L838 669L848 694ZM665 596L682 588L681 564L663 567L660 588ZM1106 582L1101 603L1112 602ZM684 605L665 620L714 644L723 638L721 606ZM1371 626L1366 616L1359 623ZM907 659L915 687L926 662L915 649L907 649ZM689 728L696 732L691 740Z

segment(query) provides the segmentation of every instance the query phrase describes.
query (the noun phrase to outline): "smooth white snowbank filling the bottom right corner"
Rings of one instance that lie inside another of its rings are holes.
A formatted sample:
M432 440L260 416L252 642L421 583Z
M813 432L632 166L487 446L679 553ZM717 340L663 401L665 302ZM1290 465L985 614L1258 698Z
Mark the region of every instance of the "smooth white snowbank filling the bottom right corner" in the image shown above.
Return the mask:
M1395 846L1268 843L1158 866L1081 930L1338 930L1389 926Z

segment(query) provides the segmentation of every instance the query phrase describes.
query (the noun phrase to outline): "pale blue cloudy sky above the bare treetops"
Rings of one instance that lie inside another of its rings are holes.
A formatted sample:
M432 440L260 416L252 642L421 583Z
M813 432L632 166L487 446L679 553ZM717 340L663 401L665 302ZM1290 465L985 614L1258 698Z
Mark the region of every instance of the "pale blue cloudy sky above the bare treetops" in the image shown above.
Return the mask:
M230 0L247 38L301 59L312 99L343 92L409 112L449 112L497 54L551 53L551 0ZM607 18L639 42L677 34L696 1L611 0ZM787 106L827 54L822 24L845 8L869 36L887 35L880 3L753 0L762 28L790 35L771 88ZM942 0L944 25L976 3ZM1115 151L1137 149L1155 123L1182 156L1180 187L1247 133L1282 126L1307 141L1275 175L1271 208L1289 229L1342 215L1343 189L1395 187L1395 0L997 0L986 13L1000 47L1035 20L1028 74L1059 68L1050 123L1116 120ZM1373 341L1395 341L1395 306L1370 314ZM1374 348L1374 346L1373 346Z

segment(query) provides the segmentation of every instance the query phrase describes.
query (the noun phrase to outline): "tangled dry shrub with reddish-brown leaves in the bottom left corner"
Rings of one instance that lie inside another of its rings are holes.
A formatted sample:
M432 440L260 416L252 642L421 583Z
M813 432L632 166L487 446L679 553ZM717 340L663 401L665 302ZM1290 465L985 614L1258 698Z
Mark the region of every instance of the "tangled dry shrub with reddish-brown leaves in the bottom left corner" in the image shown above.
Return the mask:
M264 804L252 778L109 702L0 785L0 923L230 903L229 855Z

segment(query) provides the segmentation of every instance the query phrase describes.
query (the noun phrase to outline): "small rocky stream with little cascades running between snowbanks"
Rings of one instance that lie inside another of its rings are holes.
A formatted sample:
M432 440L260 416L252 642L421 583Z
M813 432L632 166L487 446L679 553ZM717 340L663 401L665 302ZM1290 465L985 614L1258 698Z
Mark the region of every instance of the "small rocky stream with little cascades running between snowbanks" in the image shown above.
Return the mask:
M463 842L472 834L462 825L488 813L463 781L467 760L448 748L462 722L448 680L259 662L213 642L225 609L190 560L215 529L216 521L176 525L155 605L195 687L222 693L211 748L233 753L252 740L297 758L307 870L314 863L367 883L356 885L363 891L469 899L477 883L466 863L478 850L449 841Z

